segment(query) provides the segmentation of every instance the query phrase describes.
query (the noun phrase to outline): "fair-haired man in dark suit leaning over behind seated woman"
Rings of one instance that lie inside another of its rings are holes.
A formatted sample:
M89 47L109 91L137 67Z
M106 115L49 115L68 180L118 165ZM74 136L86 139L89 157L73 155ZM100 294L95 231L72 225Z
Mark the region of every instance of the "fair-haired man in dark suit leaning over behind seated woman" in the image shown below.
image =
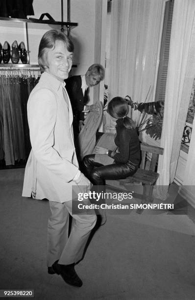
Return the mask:
M98 111L96 105L87 105L89 102L89 88L97 85L104 78L104 68L100 64L93 64L85 75L75 75L65 80L73 108L73 132L77 138L84 126L84 113Z

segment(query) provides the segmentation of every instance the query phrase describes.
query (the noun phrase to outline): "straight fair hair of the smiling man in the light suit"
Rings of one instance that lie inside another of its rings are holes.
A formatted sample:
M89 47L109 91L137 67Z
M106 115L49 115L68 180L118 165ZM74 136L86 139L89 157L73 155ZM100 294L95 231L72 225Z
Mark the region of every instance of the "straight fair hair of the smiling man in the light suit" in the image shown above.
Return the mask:
M66 34L61 31L51 29L47 31L39 44L38 63L42 72L48 67L47 62L47 50L55 47L56 41L62 41L69 52L73 52L73 42L68 38Z

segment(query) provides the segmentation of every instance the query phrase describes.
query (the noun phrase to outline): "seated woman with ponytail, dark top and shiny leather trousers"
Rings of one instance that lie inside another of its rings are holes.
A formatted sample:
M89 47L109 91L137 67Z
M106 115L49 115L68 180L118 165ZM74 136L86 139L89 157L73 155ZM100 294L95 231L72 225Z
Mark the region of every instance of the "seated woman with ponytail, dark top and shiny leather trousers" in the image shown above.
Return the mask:
M85 174L94 185L104 185L105 179L122 179L133 175L140 162L140 142L135 123L127 117L129 105L121 97L108 103L107 112L116 122L115 144L117 150L96 147L96 153L107 154L114 159L110 165L95 162L95 154L83 158Z

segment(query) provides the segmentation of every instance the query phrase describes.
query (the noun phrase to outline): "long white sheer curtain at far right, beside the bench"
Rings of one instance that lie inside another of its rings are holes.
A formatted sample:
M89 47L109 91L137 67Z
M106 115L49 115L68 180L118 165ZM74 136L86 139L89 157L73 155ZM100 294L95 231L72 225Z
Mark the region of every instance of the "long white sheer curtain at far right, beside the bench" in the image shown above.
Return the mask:
M175 0L161 137L164 155L158 163L157 192L161 198L166 198L174 179L194 76L195 0Z

